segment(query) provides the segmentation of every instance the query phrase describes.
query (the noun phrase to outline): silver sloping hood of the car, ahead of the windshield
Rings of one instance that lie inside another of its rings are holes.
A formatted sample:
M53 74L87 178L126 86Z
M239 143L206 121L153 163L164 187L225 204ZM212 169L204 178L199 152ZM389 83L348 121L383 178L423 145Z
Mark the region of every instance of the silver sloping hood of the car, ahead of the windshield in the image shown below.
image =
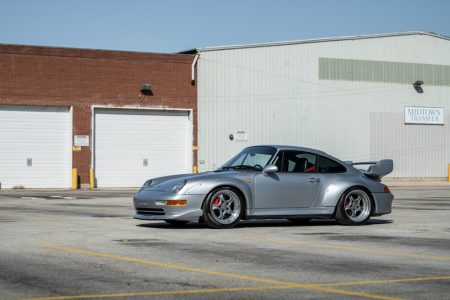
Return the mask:
M179 174L164 176L152 179L152 184L145 188L145 191L170 191L174 186L180 183L180 181L186 180L186 189L191 188L193 185L208 181L217 180L224 177L240 177L246 176L249 171L215 171L215 172L203 172L198 174ZM185 189L185 188L183 188Z

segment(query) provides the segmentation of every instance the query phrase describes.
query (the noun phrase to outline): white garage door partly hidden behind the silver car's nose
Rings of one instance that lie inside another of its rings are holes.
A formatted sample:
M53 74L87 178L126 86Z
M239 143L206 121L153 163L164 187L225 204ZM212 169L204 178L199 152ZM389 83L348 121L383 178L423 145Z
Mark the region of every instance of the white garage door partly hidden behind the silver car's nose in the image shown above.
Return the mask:
M94 126L97 187L191 172L188 112L96 109Z

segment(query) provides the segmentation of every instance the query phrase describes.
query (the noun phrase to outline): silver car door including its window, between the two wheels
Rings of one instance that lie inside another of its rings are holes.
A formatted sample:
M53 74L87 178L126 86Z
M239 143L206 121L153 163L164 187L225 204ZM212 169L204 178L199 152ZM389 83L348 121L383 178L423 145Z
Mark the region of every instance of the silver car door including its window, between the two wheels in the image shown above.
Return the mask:
M317 155L304 151L280 151L277 173L255 176L255 208L312 207L320 187Z

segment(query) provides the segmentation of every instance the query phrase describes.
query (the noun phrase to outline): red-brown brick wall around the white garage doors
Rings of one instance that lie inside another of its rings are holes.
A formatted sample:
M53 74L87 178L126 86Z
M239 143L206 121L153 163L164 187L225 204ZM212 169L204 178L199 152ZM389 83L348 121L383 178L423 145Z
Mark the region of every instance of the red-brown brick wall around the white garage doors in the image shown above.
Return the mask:
M194 56L0 44L0 104L72 106L73 134L91 133L92 105L190 108L197 144ZM142 83L153 95L139 97ZM194 165L197 164L194 152ZM89 183L91 149L73 152L80 183Z

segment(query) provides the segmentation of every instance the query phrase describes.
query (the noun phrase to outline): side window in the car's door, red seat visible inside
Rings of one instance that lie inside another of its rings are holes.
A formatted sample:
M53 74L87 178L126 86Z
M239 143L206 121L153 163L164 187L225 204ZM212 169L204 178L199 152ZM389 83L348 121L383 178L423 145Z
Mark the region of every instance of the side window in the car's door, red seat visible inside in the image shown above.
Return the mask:
M316 172L317 155L300 151L283 151L281 172L314 173Z

